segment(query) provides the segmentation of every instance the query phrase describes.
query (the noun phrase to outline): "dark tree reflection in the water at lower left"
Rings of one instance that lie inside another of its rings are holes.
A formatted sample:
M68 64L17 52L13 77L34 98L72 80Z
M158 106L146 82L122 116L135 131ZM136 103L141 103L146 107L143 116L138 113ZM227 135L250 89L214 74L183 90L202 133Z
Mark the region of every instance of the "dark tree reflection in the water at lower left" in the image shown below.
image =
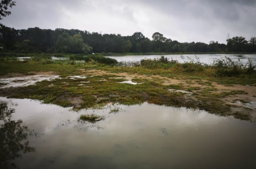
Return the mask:
M18 168L11 160L21 157L21 152L34 152L27 141L28 127L21 126L22 120L11 120L15 109L0 101L0 168Z

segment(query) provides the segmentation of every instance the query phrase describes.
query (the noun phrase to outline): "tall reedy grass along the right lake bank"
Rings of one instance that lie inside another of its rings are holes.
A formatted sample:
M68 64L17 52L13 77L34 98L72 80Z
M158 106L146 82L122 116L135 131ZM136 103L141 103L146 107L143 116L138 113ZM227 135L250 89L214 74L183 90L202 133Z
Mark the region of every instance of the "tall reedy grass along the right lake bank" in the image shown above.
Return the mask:
M143 59L141 60L141 66L148 69L170 69L176 68L186 73L202 73L209 69L215 70L217 76L238 76L241 74L255 73L256 66L252 63L252 60L248 59L247 63L243 64L239 61L232 61L230 58L214 59L212 65L207 65L199 61L199 58L190 60L190 62L178 63L175 60L169 60L162 56L159 59Z

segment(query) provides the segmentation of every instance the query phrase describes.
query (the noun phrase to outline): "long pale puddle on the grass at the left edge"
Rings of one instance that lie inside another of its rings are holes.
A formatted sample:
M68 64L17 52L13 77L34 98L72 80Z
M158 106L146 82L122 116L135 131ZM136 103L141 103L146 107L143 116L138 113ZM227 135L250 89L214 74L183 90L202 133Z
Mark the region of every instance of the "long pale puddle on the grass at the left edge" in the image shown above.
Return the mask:
M3 84L0 86L0 88L29 86L35 84L36 82L51 81L56 78L59 78L59 76L33 75L23 77L0 78L0 84Z

